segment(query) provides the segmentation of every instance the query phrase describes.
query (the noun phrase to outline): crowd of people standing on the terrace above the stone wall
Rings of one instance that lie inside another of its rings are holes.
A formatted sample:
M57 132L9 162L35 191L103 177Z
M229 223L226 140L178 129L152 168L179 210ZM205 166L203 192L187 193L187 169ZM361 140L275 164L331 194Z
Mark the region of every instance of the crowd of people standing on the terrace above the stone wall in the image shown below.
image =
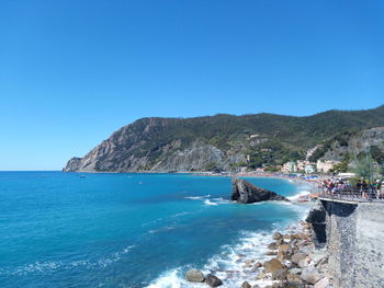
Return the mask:
M376 180L370 184L361 178L355 185L349 180L328 178L323 182L323 192L329 195L342 194L345 196L384 199L384 181Z

